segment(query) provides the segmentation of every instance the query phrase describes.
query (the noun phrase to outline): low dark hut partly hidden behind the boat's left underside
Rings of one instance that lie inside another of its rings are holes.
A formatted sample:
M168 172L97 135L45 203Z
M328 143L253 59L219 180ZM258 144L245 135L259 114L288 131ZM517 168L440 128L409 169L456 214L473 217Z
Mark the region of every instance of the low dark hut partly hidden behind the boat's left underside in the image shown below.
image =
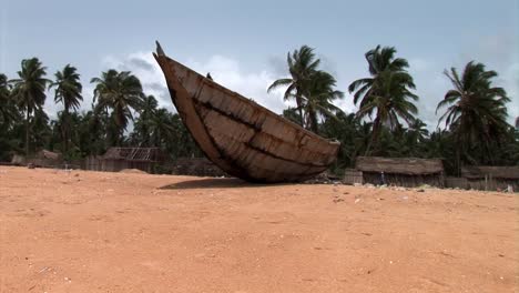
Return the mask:
M174 175L226 176L217 165L205 158L179 158L173 163Z

